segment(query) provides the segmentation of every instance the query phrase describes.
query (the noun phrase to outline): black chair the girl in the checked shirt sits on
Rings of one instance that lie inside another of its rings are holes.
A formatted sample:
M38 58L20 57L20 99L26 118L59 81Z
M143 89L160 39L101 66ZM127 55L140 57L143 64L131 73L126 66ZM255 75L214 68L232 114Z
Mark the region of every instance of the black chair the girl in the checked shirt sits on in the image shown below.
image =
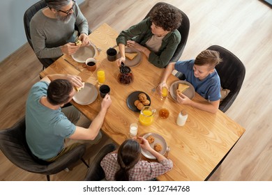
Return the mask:
M101 160L107 155L108 153L112 153L116 150L116 146L113 143L109 143L105 145L94 157L93 161L89 164L89 170L86 173L84 181L100 181L105 178L105 173L100 166Z

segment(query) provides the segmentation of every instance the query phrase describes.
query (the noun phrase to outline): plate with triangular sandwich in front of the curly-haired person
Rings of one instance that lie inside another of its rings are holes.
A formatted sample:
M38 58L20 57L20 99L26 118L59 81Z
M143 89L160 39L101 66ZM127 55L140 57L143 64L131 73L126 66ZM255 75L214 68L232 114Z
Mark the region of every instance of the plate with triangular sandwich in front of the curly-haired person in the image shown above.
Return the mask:
M126 66L128 67L135 67L142 61L142 53L139 52L138 49L133 47L126 47L125 49L125 56L126 56ZM117 54L117 59L121 57L121 54Z

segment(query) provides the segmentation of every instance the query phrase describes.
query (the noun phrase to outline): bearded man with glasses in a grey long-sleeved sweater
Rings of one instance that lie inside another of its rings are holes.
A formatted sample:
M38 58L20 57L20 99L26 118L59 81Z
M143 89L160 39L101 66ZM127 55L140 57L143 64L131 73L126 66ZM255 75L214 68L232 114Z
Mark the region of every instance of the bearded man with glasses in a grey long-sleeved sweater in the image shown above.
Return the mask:
M89 44L89 25L75 1L45 0L45 3L47 7L38 10L32 17L30 33L36 56L49 59L45 65L47 68L63 54L74 54L80 47ZM82 45L75 44L75 26Z

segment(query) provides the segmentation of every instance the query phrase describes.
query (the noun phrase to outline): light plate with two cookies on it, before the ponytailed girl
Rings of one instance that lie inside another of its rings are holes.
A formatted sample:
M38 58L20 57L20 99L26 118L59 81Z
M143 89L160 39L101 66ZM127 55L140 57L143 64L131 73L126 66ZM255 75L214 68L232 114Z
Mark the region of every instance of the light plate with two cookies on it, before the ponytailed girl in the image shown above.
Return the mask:
M156 150L161 155L165 155L167 150L167 143L162 136L156 133L148 133L148 134L144 134L143 138L149 141L151 148ZM144 155L144 157L149 159L156 159L156 157L151 155L149 151L146 151L144 149L142 149L142 155Z

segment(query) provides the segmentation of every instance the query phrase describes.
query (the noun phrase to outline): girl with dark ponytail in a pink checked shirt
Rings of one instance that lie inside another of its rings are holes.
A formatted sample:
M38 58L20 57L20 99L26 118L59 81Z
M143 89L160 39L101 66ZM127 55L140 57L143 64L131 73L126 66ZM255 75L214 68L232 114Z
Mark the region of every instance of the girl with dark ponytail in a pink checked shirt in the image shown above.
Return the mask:
M151 148L146 139L137 138L140 143L136 140L136 137L127 139L121 144L117 153L116 151L109 153L101 161L100 165L105 172L106 180L151 180L172 169L172 160ZM141 160L141 148L149 151L158 159L158 162Z

